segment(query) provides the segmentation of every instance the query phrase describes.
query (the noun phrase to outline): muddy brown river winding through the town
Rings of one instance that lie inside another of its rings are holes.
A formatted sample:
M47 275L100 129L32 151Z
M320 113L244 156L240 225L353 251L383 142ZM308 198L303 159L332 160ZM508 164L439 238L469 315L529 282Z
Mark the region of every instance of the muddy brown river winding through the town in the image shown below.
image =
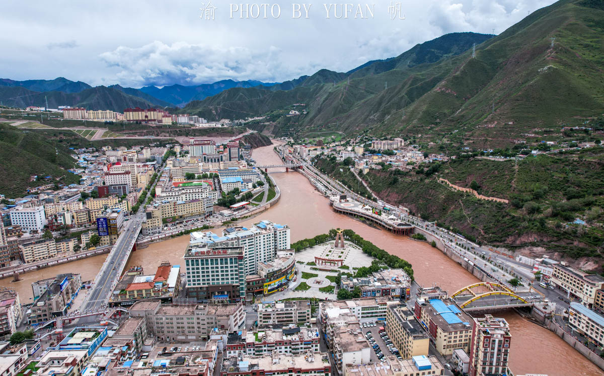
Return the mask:
M273 146L256 149L253 152L254 159L259 164L280 163L272 149ZM426 243L393 235L369 227L349 216L336 214L330 208L328 199L317 192L300 173L274 170L271 176L281 189L280 201L260 216L243 221L242 224L249 225L259 219L288 224L291 227L292 241L326 233L336 227L352 229L378 247L411 262L420 285L437 284L451 293L478 282L471 273ZM220 233L220 230L215 229L213 232ZM182 265L182 255L187 244L188 235L151 244L133 252L128 265L142 265L148 274L155 273L155 268L161 261ZM31 282L69 272L81 273L82 280L93 279L104 258L104 255L95 256L46 268L36 273L24 274L21 276L23 280L19 282L11 282L8 278L1 280L0 284L18 290L21 302L27 303L31 302ZM528 322L513 312L498 313L496 316L504 317L510 323L513 336L510 368L514 374L604 375L597 366L553 332Z

